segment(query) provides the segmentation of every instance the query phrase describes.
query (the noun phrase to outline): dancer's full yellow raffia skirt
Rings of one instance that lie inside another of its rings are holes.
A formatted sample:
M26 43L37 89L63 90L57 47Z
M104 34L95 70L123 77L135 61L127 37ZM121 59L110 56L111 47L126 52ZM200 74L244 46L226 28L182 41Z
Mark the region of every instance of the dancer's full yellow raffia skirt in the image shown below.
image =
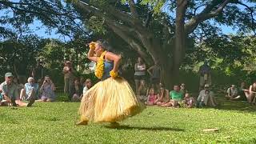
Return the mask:
M107 78L83 95L78 114L81 121L120 122L143 108L124 78Z

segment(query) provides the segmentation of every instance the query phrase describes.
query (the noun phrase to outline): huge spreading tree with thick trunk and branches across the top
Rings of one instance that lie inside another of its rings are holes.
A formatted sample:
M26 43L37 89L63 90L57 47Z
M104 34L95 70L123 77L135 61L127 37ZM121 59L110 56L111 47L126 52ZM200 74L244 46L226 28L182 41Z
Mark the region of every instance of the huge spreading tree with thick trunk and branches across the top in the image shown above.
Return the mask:
M101 30L110 34L105 38L118 35L148 65L160 63L163 81L168 86L178 78L186 47L214 39L221 34L219 24L245 33L253 33L255 27L254 0L5 0L0 1L0 8L13 14L2 16L0 22L17 30L24 30L21 26L38 18L70 38L88 29L94 29L94 34ZM0 36L9 32L5 26L0 27ZM125 51L127 46L120 48Z

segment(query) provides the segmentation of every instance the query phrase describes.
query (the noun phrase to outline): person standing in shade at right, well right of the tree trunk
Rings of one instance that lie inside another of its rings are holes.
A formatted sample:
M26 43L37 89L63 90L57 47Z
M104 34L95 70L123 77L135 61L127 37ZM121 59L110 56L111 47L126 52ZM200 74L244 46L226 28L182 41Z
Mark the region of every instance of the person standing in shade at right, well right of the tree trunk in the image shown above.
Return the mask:
M202 90L202 87L205 84L211 85L211 69L207 64L207 61L204 62L202 66L200 66L198 73L200 74L200 82L199 82L199 90Z

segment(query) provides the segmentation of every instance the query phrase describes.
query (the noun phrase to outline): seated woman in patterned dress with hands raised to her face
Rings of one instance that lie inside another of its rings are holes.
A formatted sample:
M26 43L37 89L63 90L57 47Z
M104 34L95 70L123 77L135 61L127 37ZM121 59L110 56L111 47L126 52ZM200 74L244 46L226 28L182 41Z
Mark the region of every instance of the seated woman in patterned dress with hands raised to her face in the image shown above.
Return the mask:
M41 92L41 102L54 102L55 101L55 94L54 91L56 90L54 86L54 82L51 81L48 75L45 76L44 81L42 82L42 86L40 88Z

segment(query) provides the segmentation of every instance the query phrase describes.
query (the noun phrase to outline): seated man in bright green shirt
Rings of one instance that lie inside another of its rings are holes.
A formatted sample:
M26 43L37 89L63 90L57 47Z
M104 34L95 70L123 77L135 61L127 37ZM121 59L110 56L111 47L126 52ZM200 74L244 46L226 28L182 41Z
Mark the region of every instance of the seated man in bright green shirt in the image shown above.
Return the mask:
M164 107L180 107L180 104L178 102L182 102L183 94L180 91L180 88L178 85L174 85L174 90L170 91L170 101L166 104L163 104Z

